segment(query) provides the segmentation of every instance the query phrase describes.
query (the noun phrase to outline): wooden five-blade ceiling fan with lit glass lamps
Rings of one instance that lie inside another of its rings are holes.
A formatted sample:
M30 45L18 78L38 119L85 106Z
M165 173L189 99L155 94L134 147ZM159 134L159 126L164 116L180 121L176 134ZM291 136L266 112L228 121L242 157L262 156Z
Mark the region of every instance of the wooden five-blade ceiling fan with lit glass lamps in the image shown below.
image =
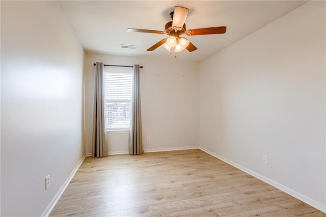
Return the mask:
M197 50L197 47L180 35L187 36L198 36L198 35L210 35L210 34L224 34L226 32L226 26L218 27L208 27L208 28L195 28L188 29L185 28L185 19L189 9L184 7L176 6L174 11L170 13L172 21L165 24L165 30L150 30L150 29L139 29L139 28L128 28L127 32L135 33L155 33L155 34L166 34L170 37L165 38L151 46L147 51L153 51L159 46L163 46L168 51L171 51L171 48L174 48L174 52L180 52L184 49L187 49L189 52Z

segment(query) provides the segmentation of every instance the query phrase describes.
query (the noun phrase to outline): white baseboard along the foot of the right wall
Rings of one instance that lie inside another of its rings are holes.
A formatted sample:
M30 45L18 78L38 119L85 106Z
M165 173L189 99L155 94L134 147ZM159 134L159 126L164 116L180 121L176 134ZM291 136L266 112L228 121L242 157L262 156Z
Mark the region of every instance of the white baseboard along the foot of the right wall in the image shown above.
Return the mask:
M260 179L260 180L262 180L264 182L266 182L267 184L272 185L273 187L275 187L275 188L277 188L277 189L279 189L279 190L281 190L281 191L295 197L296 199L301 200L301 201L311 205L312 207L315 207L316 209L319 209L320 211L326 213L326 205L321 204L321 203L319 203L319 202L317 202L317 201L315 201L315 200L313 200L313 199L311 199L311 198L309 198L309 197L307 197L307 196L305 196L305 195L303 195L301 193L298 193L298 192L284 186L283 184L280 184L280 183L278 183L278 182L276 182L274 180L271 180L271 179L269 179L269 178L267 178L267 177L265 177L263 175L260 175L259 173L256 173L256 172L254 172L254 171L252 171L252 170L250 170L250 169L248 169L246 167L243 167L243 166L241 166L241 165L239 165L237 163L234 163L233 161L230 161L230 160L228 160L228 159L226 159L226 158L224 158L222 156L219 156L219 154L215 154L214 152L209 151L209 150L207 150L207 149L205 149L205 148L203 148L201 146L199 147L199 149L201 149L202 151L205 151L206 153L210 154L211 156L213 156L215 158L218 158L218 159L220 159L220 160L222 160L222 161L224 161L224 162L238 168L239 170L242 170L243 172L246 172L246 173L248 173L248 174L250 174L250 175L252 175L252 176L254 176L254 177L256 177L256 178L258 178L258 179Z

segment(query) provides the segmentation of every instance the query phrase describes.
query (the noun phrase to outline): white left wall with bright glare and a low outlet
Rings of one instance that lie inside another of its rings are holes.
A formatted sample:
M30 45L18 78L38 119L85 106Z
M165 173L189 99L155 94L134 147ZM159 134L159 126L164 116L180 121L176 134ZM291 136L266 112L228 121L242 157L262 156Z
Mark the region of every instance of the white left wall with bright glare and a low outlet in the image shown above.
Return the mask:
M83 159L83 58L58 2L1 1L1 216L40 216Z

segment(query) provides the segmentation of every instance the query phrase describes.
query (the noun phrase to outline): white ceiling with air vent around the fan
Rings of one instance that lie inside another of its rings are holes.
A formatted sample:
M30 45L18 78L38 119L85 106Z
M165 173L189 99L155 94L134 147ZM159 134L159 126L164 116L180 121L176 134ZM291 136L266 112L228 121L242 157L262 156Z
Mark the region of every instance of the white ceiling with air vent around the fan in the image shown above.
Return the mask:
M59 1L68 22L88 52L174 58L162 46L146 51L166 35L131 33L127 28L164 30L175 6L189 9L186 28L227 26L226 34L187 36L198 49L177 53L201 61L255 32L307 1ZM137 45L137 49L121 48Z

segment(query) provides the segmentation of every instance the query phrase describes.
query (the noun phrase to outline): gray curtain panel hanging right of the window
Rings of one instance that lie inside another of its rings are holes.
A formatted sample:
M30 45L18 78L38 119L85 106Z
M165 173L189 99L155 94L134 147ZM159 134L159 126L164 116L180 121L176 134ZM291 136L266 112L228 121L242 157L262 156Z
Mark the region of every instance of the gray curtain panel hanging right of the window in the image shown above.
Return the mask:
M132 76L132 99L129 136L129 153L131 155L144 153L142 140L141 89L139 77L139 65L134 65Z

